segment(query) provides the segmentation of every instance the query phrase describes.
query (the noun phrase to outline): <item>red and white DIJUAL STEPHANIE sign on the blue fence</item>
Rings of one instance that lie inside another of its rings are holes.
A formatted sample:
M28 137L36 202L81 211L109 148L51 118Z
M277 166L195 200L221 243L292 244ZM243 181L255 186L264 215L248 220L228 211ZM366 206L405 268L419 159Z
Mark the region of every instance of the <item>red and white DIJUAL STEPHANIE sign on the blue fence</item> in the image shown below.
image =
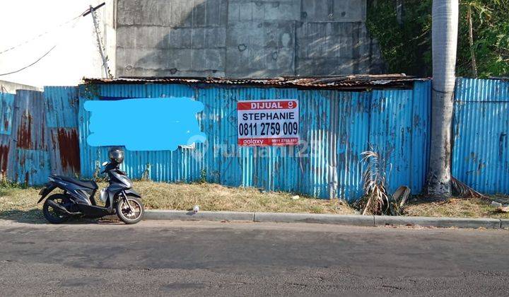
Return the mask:
M237 115L240 146L298 144L298 100L239 101Z

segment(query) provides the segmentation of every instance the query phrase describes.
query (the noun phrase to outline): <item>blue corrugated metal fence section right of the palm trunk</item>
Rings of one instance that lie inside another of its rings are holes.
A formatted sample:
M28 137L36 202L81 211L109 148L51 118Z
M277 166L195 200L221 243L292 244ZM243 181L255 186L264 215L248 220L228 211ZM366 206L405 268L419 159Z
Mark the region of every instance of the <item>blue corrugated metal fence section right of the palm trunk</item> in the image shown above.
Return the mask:
M479 192L509 193L509 81L456 83L452 175Z

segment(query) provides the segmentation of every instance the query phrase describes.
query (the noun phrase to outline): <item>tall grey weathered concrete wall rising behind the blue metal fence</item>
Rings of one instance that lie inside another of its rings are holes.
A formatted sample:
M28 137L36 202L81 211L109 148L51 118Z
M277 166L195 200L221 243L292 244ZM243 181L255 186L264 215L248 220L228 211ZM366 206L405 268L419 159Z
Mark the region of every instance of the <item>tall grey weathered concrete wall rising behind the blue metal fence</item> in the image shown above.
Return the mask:
M365 6L365 0L117 0L110 60L117 76L380 73Z

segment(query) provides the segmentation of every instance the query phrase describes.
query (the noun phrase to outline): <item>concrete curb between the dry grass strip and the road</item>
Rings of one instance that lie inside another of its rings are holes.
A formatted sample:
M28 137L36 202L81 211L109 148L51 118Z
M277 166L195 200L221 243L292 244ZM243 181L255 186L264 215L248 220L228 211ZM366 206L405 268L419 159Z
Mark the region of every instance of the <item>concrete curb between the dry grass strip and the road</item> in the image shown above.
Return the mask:
M428 216L361 216L338 214L288 214L238 211L147 210L145 220L254 221L275 223L329 223L349 226L423 226L438 228L509 228L509 219L467 219Z

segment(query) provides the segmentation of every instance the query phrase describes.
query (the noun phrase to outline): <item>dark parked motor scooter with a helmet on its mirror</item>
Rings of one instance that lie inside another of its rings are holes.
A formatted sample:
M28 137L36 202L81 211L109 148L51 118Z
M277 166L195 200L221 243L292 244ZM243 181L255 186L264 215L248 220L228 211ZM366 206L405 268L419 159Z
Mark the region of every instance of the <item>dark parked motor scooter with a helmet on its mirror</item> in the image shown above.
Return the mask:
M42 213L50 223L64 223L72 216L87 218L101 218L117 214L124 223L138 223L144 216L144 206L141 196L132 190L133 183L126 173L119 170L124 161L124 151L112 148L108 152L110 162L103 163L107 173L109 185L100 192L100 199L105 206L95 203L95 192L98 185L93 180L76 180L72 177L49 175L49 182L40 190L40 203L54 189L64 190L64 194L52 194L47 197L42 206Z

